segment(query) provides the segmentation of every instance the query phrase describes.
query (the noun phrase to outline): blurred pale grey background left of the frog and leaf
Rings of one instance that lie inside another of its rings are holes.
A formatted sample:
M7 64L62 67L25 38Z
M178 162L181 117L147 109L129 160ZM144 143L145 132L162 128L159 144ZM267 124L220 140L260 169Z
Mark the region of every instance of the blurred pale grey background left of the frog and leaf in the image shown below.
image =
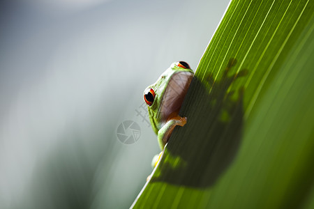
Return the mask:
M1 1L0 208L128 208L160 151L144 88L195 70L228 3Z

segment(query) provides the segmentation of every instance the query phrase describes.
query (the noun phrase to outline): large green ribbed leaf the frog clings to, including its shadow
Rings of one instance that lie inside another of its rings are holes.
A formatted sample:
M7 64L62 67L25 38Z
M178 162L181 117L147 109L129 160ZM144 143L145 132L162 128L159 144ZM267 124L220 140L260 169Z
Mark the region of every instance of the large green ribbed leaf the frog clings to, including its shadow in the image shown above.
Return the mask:
M313 4L230 3L134 208L314 206Z

